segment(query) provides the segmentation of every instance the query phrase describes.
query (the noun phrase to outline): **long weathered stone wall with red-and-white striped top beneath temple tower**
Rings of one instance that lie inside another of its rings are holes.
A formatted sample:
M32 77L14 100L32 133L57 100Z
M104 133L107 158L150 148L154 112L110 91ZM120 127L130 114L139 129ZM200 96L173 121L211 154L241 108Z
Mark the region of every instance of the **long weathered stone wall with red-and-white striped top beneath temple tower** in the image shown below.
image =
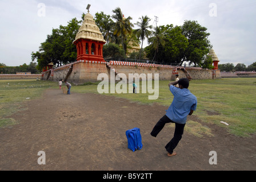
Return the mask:
M50 69L42 73L42 80L49 81L59 81L65 80L66 76L69 74L69 69L72 68L67 81L73 84L84 84L85 82L95 82L98 81L97 77L100 73L106 73L110 79L110 71L118 76L119 73L124 73L129 78L129 73L152 73L154 80L154 73L159 74L159 80L175 80L175 74L179 74L179 78L186 77L184 67L174 67L171 65L160 65L160 64L147 64L147 63L131 63L125 61L87 61L79 60L74 63L63 65L55 69ZM213 73L215 73L214 78L221 78L219 70L213 71L211 69L202 69L195 67L186 67L186 71L189 72L190 76L194 80L201 79L213 79Z

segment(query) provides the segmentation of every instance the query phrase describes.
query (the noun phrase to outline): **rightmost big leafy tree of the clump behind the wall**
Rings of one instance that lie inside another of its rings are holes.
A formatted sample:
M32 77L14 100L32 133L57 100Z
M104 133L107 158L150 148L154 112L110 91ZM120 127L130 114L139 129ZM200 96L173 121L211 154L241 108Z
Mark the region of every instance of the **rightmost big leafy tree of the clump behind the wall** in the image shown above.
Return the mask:
M201 65L202 61L209 53L212 47L207 39L210 33L207 33L207 28L202 27L197 21L185 20L181 27L182 34L187 38L189 45L186 48L183 56L183 61L189 61L190 64Z

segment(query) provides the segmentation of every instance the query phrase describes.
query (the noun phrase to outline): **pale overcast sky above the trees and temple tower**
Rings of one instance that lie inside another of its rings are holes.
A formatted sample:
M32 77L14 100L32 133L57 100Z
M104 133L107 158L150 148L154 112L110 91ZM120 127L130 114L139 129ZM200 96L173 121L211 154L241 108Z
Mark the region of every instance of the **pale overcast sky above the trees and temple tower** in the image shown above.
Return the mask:
M0 63L18 66L31 62L46 36L59 25L66 26L73 18L103 11L113 15L120 7L123 14L136 23L142 15L157 25L181 26L184 20L197 20L207 28L219 64L256 61L255 0L0 0ZM146 46L146 45L145 45Z

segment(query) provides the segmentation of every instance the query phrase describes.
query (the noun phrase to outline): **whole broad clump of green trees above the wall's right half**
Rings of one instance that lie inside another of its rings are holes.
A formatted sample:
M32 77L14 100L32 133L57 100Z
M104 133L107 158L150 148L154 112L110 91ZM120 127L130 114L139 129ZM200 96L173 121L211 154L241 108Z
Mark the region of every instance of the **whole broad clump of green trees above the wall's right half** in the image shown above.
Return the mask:
M207 53L212 46L207 39L210 34L206 30L196 21L188 20L182 26L167 24L155 28L153 36L149 38L150 45L145 48L147 57L167 64L182 65L188 61L190 65L211 69L213 62Z

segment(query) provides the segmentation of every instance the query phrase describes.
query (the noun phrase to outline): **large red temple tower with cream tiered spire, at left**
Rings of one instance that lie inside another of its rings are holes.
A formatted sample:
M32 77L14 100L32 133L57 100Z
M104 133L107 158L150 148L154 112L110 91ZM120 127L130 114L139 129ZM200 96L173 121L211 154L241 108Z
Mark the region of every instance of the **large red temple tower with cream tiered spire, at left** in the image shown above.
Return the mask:
M77 46L77 60L105 61L102 51L105 43L106 40L88 10L73 42Z

